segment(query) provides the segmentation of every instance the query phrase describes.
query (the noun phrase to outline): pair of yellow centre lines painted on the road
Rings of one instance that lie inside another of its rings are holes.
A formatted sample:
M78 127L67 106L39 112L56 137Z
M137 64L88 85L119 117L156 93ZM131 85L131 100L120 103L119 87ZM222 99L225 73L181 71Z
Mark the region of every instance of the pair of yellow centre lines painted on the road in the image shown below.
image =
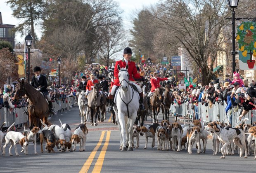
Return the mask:
M80 173L87 173L88 172L88 170L89 170L89 168L92 164L92 161L95 157L95 154L96 154L97 150L100 148L100 145L102 143L102 140L104 138L105 133L106 133L106 131L101 132L99 142L97 143L96 147L92 150L92 153L90 154L90 156L86 160L85 164L83 164L83 167L81 168ZM111 131L107 131L107 136L106 136L104 146L102 147L102 150L101 150L100 155L99 155L99 157L96 161L96 164L93 168L92 173L100 173L100 171L102 169L104 157L105 157L105 154L106 154L106 151L107 151L107 147L109 145L110 133L111 133Z

